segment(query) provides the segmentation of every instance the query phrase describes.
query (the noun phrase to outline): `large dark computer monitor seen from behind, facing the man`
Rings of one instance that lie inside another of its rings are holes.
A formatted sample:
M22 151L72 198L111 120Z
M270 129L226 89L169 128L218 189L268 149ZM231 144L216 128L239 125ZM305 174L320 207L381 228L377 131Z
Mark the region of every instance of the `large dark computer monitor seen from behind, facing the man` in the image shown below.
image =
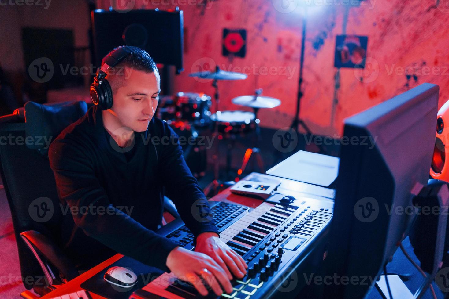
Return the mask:
M344 120L327 268L333 298L364 298L405 237L413 193L429 178L438 92L425 83Z

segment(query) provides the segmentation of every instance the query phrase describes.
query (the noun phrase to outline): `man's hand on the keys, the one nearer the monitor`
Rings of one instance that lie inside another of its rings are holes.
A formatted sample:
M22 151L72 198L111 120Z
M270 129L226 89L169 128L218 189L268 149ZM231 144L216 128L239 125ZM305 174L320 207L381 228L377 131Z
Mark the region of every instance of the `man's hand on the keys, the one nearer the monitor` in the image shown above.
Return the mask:
M248 265L237 252L233 251L228 245L220 240L219 236L214 232L204 232L198 235L196 252L202 252L210 256L218 265L220 265L229 277L233 275L242 278L247 273ZM229 268L229 269L228 269ZM231 270L231 272L229 272Z

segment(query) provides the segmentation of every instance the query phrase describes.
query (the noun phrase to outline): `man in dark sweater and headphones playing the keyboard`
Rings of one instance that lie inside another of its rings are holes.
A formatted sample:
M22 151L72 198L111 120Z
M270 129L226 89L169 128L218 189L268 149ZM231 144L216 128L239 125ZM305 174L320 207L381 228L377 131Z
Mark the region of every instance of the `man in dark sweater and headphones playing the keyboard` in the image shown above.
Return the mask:
M210 213L207 199L176 133L153 117L160 92L154 60L140 48L116 48L90 92L95 105L61 132L48 154L58 195L70 207L62 226L65 251L78 269L119 252L196 282L202 295L200 278L216 295L230 293L232 274L242 278L247 264L220 240L214 220L195 212L201 206ZM195 251L154 232L164 190L194 234Z

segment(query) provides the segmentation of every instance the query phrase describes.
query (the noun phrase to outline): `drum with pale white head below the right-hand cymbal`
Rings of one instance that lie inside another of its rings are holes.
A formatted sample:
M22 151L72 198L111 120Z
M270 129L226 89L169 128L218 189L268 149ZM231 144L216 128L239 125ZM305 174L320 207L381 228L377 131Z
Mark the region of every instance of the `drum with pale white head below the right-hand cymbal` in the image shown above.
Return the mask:
M222 134L242 134L255 129L255 114L252 112L241 110L218 112L211 116L211 120Z

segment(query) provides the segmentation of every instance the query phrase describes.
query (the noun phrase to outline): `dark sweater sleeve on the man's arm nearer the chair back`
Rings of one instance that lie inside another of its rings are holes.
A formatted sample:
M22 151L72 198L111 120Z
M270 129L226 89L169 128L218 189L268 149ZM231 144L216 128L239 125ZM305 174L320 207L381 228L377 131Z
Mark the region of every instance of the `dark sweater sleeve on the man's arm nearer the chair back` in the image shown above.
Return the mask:
M48 153L58 195L69 205L75 224L114 251L169 272L167 256L178 245L110 203L86 152L79 140L67 138L55 140Z

